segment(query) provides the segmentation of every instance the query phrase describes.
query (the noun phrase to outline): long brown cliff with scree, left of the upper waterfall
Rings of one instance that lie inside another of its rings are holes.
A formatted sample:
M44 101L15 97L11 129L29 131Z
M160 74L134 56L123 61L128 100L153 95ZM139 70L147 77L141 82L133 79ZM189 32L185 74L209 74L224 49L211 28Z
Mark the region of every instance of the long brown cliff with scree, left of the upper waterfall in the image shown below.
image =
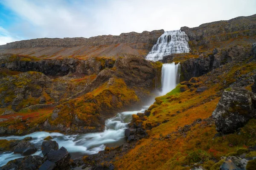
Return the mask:
M0 53L23 54L40 58L64 58L67 56L118 57L129 53L145 57L163 34L163 30L142 33L122 33L119 36L102 35L90 38L38 38L0 45Z

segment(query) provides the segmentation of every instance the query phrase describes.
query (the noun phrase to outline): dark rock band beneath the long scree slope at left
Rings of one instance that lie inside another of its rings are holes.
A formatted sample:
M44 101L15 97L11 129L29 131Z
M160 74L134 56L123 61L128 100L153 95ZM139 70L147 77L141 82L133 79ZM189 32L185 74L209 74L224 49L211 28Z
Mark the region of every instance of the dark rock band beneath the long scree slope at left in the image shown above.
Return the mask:
M115 63L111 58L89 58L86 60L64 58L64 59L42 59L33 61L29 58L16 55L2 55L2 68L12 71L38 71L49 76L64 76L68 73L79 73L85 75L99 74L105 68L113 68ZM6 56L6 57L4 57Z

